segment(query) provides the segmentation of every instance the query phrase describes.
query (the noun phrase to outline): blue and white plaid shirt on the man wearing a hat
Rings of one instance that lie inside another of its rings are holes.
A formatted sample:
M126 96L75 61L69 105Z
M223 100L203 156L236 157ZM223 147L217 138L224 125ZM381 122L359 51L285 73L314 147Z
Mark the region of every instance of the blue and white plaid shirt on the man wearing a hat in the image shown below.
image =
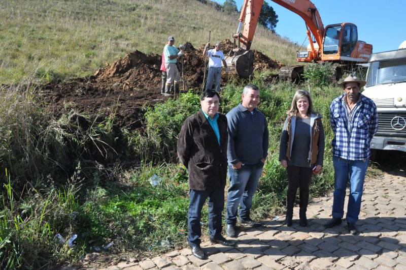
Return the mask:
M352 130L348 131L348 118L343 106L346 94L333 100L330 106L330 123L334 132L331 141L333 156L347 160L364 160L370 156L370 142L378 130L378 111L374 101L360 95L360 106L352 118Z

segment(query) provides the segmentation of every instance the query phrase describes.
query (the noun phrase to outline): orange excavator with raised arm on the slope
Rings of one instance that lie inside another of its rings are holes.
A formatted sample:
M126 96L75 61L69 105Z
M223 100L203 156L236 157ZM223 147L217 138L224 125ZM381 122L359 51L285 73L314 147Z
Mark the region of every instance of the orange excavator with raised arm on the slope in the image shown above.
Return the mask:
M310 0L272 0L296 13L306 23L310 44L306 51L297 51L296 59L302 63L334 63L335 79L343 70L351 70L355 64L366 63L372 53L372 45L358 40L357 25L349 22L327 25L325 28L316 6ZM244 0L236 34L234 49L227 57L228 67L247 78L253 72L254 54L250 51L258 24L263 0ZM243 32L240 33L241 27ZM279 77L292 81L300 79L303 65L282 67Z

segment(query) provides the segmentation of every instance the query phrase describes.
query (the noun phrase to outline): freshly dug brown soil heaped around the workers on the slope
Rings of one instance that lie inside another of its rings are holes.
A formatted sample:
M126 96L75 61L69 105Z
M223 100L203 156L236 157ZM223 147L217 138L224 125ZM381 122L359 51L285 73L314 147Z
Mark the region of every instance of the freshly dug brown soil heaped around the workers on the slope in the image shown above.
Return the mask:
M224 40L222 44L224 53L232 49L230 40ZM195 49L190 43L185 44L185 89L200 89L202 86L205 68L203 49L204 46ZM282 66L259 51L254 51L254 55L255 70ZM160 65L161 55L133 51L112 64L106 64L93 76L70 82L48 83L43 87L41 95L56 115L66 108L101 116L115 112L115 123L119 127L138 128L142 124L142 108L167 99L160 94ZM223 84L227 83L228 77L223 76Z

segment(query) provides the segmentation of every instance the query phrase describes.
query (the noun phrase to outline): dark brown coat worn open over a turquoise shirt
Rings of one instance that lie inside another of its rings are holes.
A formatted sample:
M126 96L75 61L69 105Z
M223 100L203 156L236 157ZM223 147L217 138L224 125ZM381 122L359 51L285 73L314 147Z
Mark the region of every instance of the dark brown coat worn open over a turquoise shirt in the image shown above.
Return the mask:
M193 190L223 189L227 175L227 118L219 114L216 134L201 110L189 116L178 139L179 160L188 168L189 188Z

